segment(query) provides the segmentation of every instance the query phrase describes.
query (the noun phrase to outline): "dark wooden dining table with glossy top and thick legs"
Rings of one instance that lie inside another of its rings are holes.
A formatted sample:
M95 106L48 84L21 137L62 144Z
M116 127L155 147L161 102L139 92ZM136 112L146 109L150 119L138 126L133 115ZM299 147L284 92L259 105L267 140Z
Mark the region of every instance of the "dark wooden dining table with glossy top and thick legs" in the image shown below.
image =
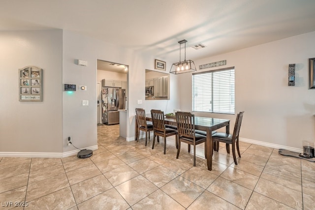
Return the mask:
M146 120L152 121L151 114L146 114ZM165 124L177 126L176 118L165 116ZM208 170L212 170L212 155L213 155L213 139L212 131L218 130L222 127L225 127L225 132L229 133L230 130L230 120L218 119L218 118L208 118L208 117L195 117L195 129L206 131L207 140L206 140L206 159ZM135 140L137 140L138 125L135 123Z

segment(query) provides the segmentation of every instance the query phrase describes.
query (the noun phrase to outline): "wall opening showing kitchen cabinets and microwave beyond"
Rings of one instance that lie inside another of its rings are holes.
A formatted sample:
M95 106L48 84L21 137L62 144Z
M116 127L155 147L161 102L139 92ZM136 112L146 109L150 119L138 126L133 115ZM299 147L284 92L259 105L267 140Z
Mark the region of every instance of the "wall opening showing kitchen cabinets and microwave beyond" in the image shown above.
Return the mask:
M169 100L169 74L146 69L146 100Z

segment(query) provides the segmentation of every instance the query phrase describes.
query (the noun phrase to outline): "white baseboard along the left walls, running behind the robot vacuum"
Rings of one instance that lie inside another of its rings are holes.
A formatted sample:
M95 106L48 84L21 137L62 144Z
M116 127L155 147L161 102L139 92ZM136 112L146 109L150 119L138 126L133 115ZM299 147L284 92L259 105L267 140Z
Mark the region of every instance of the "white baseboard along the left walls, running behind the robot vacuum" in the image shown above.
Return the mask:
M97 150L98 146L84 148L87 150ZM67 152L0 152L0 157L43 157L43 158L62 158L75 155L80 150L72 150Z

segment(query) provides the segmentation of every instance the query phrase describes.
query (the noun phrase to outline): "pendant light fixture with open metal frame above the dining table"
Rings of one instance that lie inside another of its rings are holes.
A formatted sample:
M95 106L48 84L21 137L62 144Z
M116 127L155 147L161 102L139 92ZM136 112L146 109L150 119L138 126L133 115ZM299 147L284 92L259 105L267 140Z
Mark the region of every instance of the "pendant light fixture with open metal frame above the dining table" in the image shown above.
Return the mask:
M186 40L179 41L179 62L173 63L169 73L182 74L196 71L195 63L192 60L186 60ZM181 46L185 44L185 60L181 61Z

